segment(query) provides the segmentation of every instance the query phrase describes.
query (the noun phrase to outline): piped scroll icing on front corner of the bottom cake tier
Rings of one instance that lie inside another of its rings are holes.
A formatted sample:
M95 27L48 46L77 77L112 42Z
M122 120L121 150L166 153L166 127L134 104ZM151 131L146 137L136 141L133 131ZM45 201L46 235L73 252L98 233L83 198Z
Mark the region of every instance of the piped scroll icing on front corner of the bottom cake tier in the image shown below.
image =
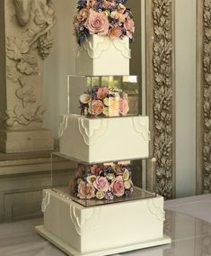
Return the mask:
M73 224L75 224L76 233L80 236L87 233L87 231L94 228L99 222L98 219L101 216L101 207L93 207L86 209L86 217L84 221L82 219L82 212L75 206L70 206L70 218Z

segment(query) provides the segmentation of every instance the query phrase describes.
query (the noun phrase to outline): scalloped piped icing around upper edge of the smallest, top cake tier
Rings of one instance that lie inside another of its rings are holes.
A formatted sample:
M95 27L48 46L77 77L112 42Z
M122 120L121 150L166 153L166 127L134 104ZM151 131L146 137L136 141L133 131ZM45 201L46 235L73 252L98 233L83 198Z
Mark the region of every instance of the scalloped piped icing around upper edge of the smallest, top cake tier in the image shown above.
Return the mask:
M93 45L92 41L86 39L84 41L83 47L87 51L88 55L92 59L98 59L101 57L102 52L109 50L110 45L113 44L116 50L127 59L131 58L131 50L128 48L125 41L117 39L110 40L107 36L98 36L98 42ZM80 50L78 52L80 54Z

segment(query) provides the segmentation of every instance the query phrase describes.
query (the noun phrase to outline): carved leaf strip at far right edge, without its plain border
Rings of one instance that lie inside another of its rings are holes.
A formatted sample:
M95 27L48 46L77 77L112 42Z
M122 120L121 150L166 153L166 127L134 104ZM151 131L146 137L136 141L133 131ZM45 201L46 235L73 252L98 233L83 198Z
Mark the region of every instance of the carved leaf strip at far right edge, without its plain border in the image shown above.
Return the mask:
M203 7L203 193L211 193L211 0Z

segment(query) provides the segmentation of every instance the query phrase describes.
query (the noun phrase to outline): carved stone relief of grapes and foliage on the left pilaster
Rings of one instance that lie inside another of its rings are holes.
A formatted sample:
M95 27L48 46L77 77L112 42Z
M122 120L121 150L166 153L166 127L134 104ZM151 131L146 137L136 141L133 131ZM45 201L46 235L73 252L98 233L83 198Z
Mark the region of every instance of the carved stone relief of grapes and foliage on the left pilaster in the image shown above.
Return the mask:
M13 13L11 6L12 2L7 6L9 14ZM13 0L13 7L13 23L20 28L6 38L7 79L15 87L18 103L15 100L15 105L6 111L4 120L8 127L43 121L45 109L38 100L42 81L32 81L42 73L41 59L48 57L53 46L51 29L56 23L51 1Z

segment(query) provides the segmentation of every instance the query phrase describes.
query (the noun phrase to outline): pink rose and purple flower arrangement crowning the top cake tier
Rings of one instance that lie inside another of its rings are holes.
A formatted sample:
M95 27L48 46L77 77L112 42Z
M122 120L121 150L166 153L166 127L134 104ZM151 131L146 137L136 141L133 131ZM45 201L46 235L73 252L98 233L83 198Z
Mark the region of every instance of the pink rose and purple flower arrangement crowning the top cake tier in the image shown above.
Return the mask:
M109 36L111 40L127 36L134 41L135 23L127 0L78 0L75 36L79 45L92 34Z

